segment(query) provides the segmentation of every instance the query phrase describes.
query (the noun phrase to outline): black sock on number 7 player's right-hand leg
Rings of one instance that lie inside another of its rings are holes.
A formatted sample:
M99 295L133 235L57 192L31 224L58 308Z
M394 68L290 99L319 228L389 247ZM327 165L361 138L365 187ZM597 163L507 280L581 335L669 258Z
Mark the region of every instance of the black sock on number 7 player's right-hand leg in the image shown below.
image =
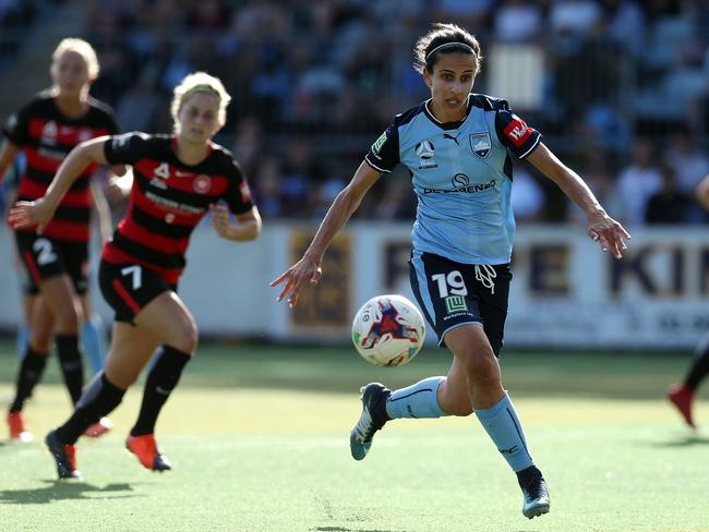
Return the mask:
M131 430L131 436L142 436L155 432L157 416L180 380L182 370L191 358L189 353L170 346L160 347L160 354L145 380L141 413Z

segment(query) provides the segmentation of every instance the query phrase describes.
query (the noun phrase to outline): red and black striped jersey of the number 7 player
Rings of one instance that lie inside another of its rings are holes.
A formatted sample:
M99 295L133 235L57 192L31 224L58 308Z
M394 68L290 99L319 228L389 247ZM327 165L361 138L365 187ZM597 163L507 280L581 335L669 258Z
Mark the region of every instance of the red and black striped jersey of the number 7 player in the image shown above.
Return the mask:
M175 137L133 132L113 136L104 152L111 165L133 167L133 189L125 217L104 247L109 263L134 263L176 285L194 227L209 204L226 201L231 213L251 210L249 183L231 154L209 144L199 165L181 162Z

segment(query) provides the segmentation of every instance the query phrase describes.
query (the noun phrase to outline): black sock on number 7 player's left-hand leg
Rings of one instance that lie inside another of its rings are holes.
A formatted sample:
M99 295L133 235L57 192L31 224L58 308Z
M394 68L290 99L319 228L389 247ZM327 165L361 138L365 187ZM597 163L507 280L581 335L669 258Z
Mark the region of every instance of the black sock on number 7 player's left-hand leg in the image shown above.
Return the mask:
M74 445L89 425L112 412L121 403L124 394L125 390L108 382L104 372L98 373L76 402L74 413L67 423L57 428L59 440L67 445Z

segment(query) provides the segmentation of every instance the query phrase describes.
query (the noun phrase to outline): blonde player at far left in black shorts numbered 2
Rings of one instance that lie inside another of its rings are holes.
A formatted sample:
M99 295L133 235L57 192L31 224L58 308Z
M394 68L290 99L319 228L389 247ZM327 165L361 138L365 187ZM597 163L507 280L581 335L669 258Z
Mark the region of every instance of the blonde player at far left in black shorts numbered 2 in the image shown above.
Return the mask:
M88 95L98 70L96 52L88 43L63 39L52 55L52 87L35 96L9 119L3 129L5 140L0 146L0 178L20 150L24 150L26 169L17 186L19 200L41 197L63 158L80 142L118 132L110 108ZM7 416L11 439L32 439L32 434L25 430L22 408L45 370L52 331L73 403L79 400L84 385L80 331L84 347L92 353L94 368L103 365L100 334L88 317L86 294L89 190L96 191L95 186L89 189L89 178L94 169L94 166L87 167L73 184L44 234L36 234L32 228L15 232L19 255L27 270L25 292L31 302L27 304L31 336ZM118 166L113 171L123 173L124 169ZM95 204L97 207L106 205L105 200ZM99 209L103 226L110 225L106 208ZM32 298L37 293L41 297ZM83 327L82 322L85 322ZM98 436L108 428L110 422L101 420L88 435Z

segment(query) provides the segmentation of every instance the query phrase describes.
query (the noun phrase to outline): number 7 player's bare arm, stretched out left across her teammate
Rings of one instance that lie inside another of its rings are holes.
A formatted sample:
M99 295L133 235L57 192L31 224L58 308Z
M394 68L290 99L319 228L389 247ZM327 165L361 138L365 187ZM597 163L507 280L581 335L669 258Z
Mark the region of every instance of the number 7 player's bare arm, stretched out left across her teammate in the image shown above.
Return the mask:
M104 144L108 136L99 136L81 143L72 149L63 160L57 176L51 181L44 197L35 202L17 202L10 210L8 220L13 228L38 225L37 232L41 233L45 226L55 215L67 191L91 162L106 165Z

